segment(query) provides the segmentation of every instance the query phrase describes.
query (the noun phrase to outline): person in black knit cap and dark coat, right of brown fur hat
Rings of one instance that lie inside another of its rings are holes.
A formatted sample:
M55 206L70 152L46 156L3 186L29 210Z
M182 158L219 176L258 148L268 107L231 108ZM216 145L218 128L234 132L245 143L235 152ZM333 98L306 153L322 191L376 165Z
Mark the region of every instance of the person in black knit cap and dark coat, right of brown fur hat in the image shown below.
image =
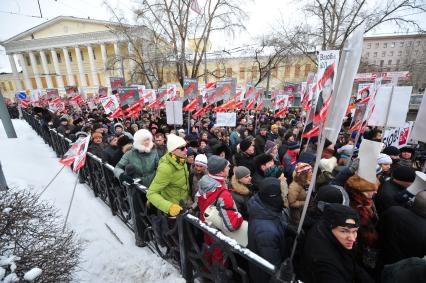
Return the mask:
M398 166L392 171L392 178L383 183L374 199L379 216L391 206L400 205L396 199L400 192L408 188L416 178L413 168Z

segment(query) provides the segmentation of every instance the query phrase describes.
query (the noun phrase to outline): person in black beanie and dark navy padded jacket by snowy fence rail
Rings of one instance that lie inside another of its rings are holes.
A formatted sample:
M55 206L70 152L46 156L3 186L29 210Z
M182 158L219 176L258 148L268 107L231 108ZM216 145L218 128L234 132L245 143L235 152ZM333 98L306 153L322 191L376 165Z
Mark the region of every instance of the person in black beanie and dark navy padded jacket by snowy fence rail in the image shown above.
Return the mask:
M285 233L288 219L283 213L281 184L277 178L265 178L259 193L248 201L248 248L275 266L288 256ZM253 282L269 282L271 275L255 264L249 265Z

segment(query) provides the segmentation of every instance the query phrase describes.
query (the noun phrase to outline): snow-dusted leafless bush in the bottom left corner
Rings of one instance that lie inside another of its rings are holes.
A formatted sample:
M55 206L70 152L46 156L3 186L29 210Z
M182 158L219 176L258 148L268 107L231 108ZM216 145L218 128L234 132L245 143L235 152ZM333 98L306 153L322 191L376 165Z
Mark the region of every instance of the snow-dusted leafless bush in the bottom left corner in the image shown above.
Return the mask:
M62 232L55 208L29 190L9 189L0 192L0 219L0 269L6 271L0 280L22 282L38 267L41 275L33 282L72 281L82 246L74 232Z

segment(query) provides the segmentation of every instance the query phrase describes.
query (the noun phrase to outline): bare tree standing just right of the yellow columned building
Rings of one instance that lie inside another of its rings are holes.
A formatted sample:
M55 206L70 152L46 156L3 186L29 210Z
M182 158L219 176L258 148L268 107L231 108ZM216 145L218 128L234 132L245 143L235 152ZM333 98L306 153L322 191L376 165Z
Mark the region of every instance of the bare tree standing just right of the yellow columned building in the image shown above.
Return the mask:
M233 33L244 28L246 14L241 0L207 0L198 14L191 10L192 0L143 0L135 11L138 23L158 31L169 44L171 63L181 85L185 77L198 78L214 32ZM188 42L193 42L192 50Z

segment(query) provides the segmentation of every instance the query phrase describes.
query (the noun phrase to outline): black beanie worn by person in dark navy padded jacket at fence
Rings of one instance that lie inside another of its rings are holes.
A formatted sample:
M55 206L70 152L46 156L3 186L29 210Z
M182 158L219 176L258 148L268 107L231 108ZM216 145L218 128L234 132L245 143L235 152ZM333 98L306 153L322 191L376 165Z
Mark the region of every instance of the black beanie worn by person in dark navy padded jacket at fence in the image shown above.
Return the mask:
M282 211L284 208L284 201L281 197L281 183L280 180L274 177L267 177L263 179L259 187L259 198L261 202L275 211Z

